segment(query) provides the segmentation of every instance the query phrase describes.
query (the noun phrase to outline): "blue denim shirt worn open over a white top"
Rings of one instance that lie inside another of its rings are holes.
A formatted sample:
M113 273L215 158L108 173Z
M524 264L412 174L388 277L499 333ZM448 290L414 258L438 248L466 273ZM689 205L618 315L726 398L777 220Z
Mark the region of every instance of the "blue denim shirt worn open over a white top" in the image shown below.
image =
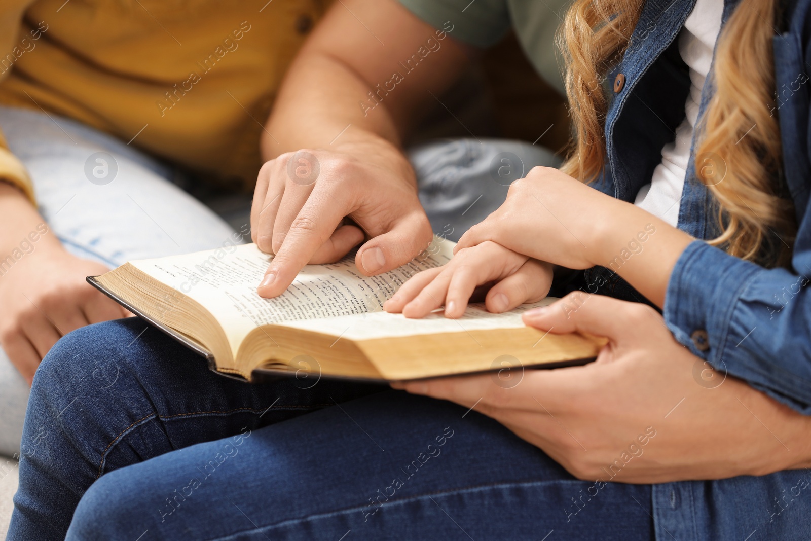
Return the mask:
M737 3L726 0L723 22ZM594 187L622 200L633 201L650 182L663 145L673 140L684 118L689 75L676 36L693 4L649 0L628 52L612 74L622 73L625 83L609 105L607 172ZM676 263L663 311L667 327L693 354L804 414L811 414L811 296L805 287L811 277L811 98L805 84L811 69L809 6L811 0L788 6L787 31L774 38L783 168L799 224L792 268L762 268L697 240ZM699 115L712 92L708 77ZM706 158L699 161L703 164ZM718 233L717 207L697 180L695 163L693 155L678 227L696 238L713 238ZM600 272L593 271L587 280ZM606 277L610 273L602 272ZM767 431L764 427L763 437L776 437ZM653 500L660 541L811 539L809 470L662 483L653 486Z

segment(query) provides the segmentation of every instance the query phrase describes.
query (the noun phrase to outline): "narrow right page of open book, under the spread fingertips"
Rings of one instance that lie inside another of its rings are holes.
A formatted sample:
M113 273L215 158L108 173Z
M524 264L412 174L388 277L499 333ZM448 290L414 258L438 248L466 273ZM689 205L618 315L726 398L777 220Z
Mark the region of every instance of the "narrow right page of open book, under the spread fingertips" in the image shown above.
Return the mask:
M470 333L493 328L523 327L521 314L535 307L547 306L557 298L547 297L538 303L521 306L502 314L492 314L483 303L470 304L465 315L449 320L442 311L434 311L420 320L410 320L402 314L375 312L356 314L330 320L307 320L285 322L285 327L303 328L316 333L332 334L347 340L372 340L375 338L408 337L415 334Z

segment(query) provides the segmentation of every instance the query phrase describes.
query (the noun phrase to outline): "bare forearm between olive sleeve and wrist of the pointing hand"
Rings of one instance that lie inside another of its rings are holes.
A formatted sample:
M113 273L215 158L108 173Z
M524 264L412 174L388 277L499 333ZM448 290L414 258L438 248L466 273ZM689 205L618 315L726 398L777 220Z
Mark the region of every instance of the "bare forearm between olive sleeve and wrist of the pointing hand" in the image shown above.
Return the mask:
M401 64L427 46L418 68ZM440 95L465 69L468 52L396 0L335 2L285 76L263 134L264 158L354 143L398 148L434 101L431 92Z

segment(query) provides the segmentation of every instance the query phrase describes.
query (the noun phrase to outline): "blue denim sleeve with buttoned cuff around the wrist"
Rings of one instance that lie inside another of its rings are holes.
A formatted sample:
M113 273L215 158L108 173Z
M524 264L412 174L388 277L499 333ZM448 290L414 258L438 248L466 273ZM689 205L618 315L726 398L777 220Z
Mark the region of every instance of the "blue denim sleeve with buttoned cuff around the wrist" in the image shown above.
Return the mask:
M799 274L695 241L667 286L667 326L715 369L811 414L809 264L809 252L797 247L793 266Z

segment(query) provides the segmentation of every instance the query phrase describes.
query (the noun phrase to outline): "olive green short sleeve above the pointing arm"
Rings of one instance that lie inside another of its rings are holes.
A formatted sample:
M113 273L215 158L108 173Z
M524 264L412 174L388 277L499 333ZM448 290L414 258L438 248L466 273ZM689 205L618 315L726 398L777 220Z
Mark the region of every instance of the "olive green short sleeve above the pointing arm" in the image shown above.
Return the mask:
M507 0L400 0L414 15L459 41L495 45L512 28Z

